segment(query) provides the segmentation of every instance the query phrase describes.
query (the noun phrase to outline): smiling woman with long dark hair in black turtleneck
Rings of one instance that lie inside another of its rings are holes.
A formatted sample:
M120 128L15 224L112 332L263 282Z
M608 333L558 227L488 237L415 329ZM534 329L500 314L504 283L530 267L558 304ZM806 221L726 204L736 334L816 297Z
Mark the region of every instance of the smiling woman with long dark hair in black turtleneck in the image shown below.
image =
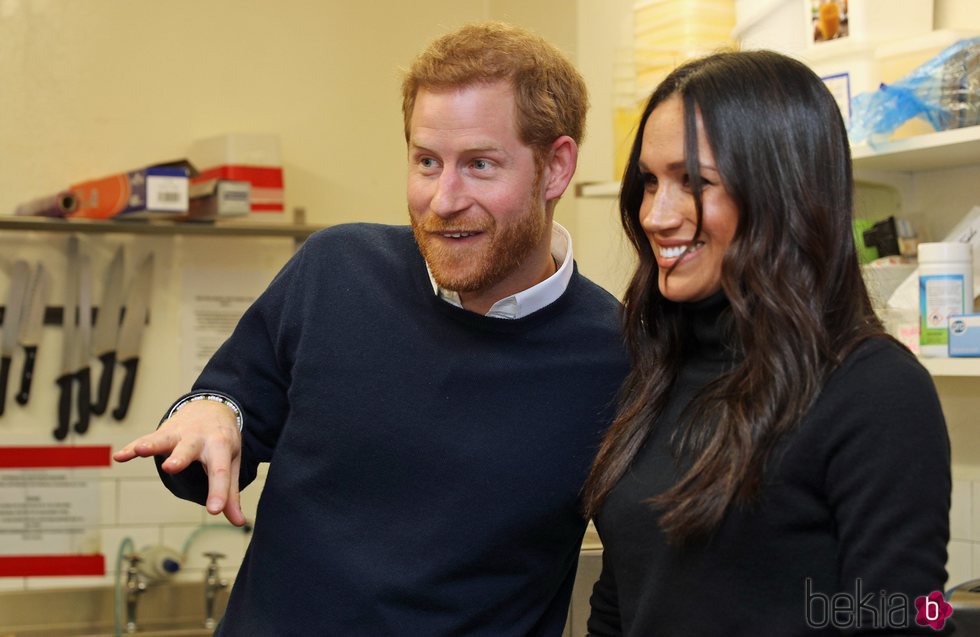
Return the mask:
M946 425L872 310L852 203L802 63L720 53L653 93L620 195L633 368L585 488L591 635L949 630Z

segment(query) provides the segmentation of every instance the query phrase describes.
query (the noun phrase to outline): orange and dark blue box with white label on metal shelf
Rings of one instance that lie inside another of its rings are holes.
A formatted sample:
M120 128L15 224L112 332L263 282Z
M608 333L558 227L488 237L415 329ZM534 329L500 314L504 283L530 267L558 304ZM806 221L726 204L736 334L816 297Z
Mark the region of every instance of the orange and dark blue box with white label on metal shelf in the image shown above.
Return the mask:
M78 198L78 207L68 216L129 219L186 214L189 179L194 174L190 162L178 160L73 184L69 190Z

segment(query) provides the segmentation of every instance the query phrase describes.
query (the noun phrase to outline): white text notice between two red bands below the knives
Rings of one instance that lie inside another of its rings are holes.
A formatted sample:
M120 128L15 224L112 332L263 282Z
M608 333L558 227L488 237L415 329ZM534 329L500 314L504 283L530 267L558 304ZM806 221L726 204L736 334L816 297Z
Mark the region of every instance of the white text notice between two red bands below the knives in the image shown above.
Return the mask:
M99 550L97 469L0 469L3 555Z

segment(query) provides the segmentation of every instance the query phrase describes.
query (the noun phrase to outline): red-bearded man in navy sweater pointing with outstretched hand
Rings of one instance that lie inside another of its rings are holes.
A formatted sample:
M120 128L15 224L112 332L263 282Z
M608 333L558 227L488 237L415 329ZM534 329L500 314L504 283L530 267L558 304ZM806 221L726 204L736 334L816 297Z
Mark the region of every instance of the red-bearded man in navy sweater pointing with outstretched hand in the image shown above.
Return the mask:
M585 85L499 23L403 84L407 227L310 237L156 432L176 495L245 523L217 635L561 635L579 492L627 360L554 208Z

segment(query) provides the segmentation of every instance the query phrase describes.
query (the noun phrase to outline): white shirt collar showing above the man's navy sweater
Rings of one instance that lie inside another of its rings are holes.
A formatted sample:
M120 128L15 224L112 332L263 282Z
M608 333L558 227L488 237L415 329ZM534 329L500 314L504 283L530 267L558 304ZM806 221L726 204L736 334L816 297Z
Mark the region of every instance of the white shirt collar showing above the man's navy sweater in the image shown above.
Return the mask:
M551 256L560 264L554 274L526 290L500 299L490 307L487 316L504 319L523 318L557 301L572 280L574 261L572 236L558 222L551 224ZM429 270L428 263L425 267ZM439 298L456 307L463 307L459 293L439 287L432 276L432 270L429 270L429 280L432 282L432 290L439 295Z

